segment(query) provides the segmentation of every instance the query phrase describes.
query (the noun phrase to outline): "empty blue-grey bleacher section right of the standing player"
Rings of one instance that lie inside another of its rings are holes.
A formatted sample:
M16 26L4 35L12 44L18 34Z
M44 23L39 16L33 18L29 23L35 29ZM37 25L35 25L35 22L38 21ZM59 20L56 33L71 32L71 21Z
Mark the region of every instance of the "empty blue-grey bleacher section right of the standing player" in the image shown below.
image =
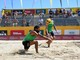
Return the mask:
M79 26L76 18L55 18L54 23L57 26Z

